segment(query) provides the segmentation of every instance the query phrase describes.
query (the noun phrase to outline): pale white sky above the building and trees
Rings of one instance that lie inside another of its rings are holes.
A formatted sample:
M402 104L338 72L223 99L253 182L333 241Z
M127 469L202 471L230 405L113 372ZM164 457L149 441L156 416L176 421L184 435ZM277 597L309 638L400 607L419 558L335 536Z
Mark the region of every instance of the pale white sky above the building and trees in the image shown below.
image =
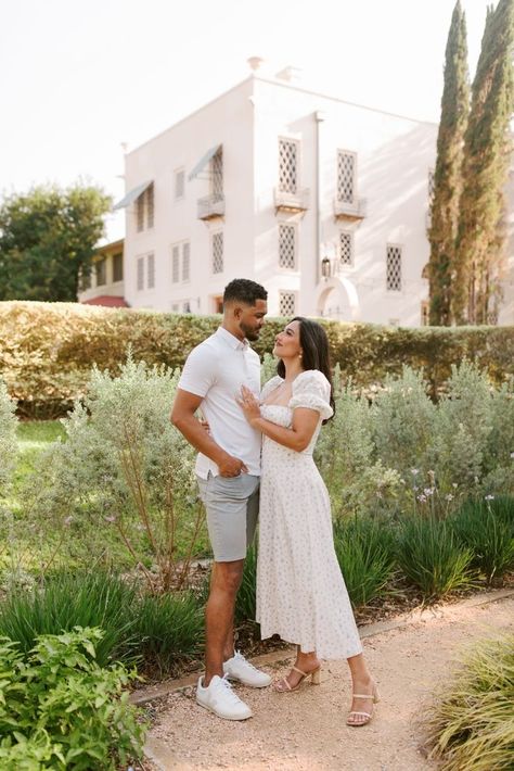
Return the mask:
M488 0L462 0L470 69ZM150 139L262 56L305 85L439 118L454 0L2 0L0 192L78 177L124 192L121 142Z

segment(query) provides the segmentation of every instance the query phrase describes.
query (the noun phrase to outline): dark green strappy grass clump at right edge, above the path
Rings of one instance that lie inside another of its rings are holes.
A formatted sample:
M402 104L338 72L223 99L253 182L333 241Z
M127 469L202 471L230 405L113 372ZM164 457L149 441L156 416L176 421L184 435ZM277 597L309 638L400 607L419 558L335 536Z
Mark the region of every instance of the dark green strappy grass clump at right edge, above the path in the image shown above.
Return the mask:
M472 565L489 583L514 569L513 527L493 511L492 503L470 500L450 520L461 543L473 553Z

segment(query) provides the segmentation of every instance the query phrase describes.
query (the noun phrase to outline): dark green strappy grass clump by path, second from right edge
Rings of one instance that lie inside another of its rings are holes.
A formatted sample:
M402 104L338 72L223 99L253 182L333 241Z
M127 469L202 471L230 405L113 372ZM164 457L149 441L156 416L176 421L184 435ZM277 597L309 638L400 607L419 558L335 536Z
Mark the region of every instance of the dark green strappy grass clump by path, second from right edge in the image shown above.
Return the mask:
M396 553L406 578L425 599L444 597L473 582L473 553L459 543L444 520L409 517L398 528Z

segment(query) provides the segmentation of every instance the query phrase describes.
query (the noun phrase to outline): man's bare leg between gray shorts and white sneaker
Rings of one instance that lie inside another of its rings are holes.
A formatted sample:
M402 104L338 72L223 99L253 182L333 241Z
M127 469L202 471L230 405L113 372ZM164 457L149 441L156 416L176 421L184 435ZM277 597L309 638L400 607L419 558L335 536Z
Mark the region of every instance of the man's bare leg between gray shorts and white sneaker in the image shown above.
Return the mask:
M205 687L215 674L223 677L223 661L234 655L234 607L243 566L244 559L236 559L215 563L213 567L210 593L205 608Z

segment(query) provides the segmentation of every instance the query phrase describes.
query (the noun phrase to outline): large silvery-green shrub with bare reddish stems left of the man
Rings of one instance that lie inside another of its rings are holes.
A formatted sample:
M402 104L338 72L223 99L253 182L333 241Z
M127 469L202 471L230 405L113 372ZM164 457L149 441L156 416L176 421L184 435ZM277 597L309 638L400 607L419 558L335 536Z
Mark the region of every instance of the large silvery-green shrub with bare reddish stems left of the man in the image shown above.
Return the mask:
M178 378L130 355L117 377L93 369L85 404L62 421L66 441L41 456L36 513L87 524L80 538L100 545L113 526L132 543L152 530L154 554L170 527L192 528L195 452L169 420Z

